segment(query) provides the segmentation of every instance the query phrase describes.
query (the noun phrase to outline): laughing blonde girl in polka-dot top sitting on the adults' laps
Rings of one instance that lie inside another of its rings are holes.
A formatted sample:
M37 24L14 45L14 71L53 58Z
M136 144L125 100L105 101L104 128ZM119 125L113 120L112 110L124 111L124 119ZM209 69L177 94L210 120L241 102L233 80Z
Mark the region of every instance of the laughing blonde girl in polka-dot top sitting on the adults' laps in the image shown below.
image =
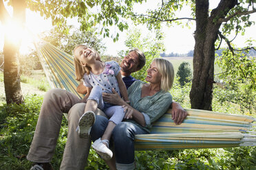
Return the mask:
M86 45L78 45L74 49L74 64L76 80L83 78L83 84L87 88L87 94L83 101L87 101L85 113L79 119L78 133L81 138L88 136L95 121L97 108L107 114L109 123L103 136L94 141L92 147L105 160L109 160L113 154L109 149L109 139L114 127L125 116L122 106L113 106L103 101L102 93L112 93L112 89L122 95L128 101L125 83L122 81L120 66L114 62L101 62L98 52Z

